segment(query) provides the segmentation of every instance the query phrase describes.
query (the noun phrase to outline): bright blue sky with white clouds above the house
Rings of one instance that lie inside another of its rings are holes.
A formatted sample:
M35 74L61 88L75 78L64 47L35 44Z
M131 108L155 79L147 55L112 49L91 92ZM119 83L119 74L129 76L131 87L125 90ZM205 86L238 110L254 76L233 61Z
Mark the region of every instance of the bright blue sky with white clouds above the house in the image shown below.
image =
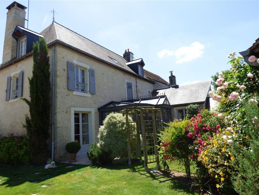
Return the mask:
M0 62L5 8L12 2L0 1ZM54 8L57 23L119 55L129 48L135 59L143 58L144 69L166 81L173 70L183 84L230 68L226 56L259 37L258 7L258 1L30 0L29 29L40 33L51 24Z

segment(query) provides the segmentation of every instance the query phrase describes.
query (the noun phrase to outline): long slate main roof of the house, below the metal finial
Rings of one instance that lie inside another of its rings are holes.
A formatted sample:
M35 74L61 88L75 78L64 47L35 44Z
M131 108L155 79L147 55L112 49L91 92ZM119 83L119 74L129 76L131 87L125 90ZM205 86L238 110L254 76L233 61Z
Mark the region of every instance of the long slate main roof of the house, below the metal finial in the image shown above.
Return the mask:
M98 59L108 62L119 69L126 70L127 72L139 76L126 65L127 61L122 56L102 47L101 45L87 39L86 37L83 37L80 34L77 34L76 32L73 32L72 30L69 30L66 27L63 27L59 23L52 23L44 29L41 34L46 39L47 44L59 40L69 46L72 46L73 48L90 54L93 57L97 57ZM115 59L117 63L112 59ZM145 79L154 82L147 77L145 77Z

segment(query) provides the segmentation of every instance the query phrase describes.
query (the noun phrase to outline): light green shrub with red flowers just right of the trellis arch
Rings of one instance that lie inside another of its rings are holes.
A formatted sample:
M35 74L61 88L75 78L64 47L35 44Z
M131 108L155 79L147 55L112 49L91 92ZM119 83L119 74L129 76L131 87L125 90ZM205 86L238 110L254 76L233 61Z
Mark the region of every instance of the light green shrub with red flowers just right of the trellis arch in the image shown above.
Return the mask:
M165 161L178 160L184 165L187 176L190 176L191 151L189 150L190 143L186 140L185 128L189 123L188 120L170 122L165 130L159 134L161 141L159 153L163 155L162 159Z

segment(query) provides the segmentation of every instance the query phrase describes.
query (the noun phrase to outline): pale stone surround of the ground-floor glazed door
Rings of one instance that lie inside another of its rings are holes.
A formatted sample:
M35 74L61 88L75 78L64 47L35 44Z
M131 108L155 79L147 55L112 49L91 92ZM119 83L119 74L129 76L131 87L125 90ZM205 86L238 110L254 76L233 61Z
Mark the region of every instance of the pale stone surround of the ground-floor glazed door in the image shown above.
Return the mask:
M95 139L95 125L94 125L94 108L72 107L71 106L71 141L75 141L75 113L88 113L89 125L89 144L92 144ZM91 132L90 132L91 131ZM68 140L69 141L69 140Z

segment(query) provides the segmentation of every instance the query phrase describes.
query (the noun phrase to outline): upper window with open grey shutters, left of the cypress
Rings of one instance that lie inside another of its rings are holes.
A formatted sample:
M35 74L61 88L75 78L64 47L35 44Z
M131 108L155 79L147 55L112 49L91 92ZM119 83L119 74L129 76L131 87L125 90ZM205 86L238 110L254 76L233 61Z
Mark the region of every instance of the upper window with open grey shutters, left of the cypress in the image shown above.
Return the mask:
M13 100L22 97L23 94L23 71L18 70L7 77L5 100Z

